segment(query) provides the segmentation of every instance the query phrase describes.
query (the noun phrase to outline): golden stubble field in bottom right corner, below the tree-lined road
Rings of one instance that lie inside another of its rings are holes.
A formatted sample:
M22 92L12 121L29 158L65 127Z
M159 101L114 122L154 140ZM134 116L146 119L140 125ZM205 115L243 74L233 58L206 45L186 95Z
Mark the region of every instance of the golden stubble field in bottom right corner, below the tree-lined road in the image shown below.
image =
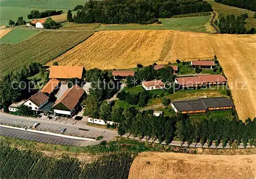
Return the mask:
M255 178L256 155L214 156L143 152L129 178Z

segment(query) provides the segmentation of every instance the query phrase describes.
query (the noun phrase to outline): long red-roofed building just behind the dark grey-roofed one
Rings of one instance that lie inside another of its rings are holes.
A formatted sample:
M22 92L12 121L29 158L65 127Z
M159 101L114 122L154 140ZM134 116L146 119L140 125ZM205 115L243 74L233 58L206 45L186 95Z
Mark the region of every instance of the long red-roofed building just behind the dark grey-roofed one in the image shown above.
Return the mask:
M181 88L200 87L202 85L226 84L227 79L221 74L195 75L191 77L180 77L175 79L175 83Z

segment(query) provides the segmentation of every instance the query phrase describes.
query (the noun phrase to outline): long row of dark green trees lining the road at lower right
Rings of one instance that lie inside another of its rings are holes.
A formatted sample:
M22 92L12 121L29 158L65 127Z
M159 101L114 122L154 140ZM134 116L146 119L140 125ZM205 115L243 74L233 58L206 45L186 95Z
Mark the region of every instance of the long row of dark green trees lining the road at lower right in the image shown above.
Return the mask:
M216 146L222 142L223 147L227 143L231 146L240 142L247 145L256 144L256 118L247 119L245 122L223 118L203 118L202 120L190 119L188 116L179 114L178 116L164 117L154 116L153 111L138 112L134 107L123 111L121 121L118 126L119 135L133 134L134 137L150 137L153 141L165 140L166 144L173 139L192 142L200 142L202 145L207 142L210 146L215 141Z

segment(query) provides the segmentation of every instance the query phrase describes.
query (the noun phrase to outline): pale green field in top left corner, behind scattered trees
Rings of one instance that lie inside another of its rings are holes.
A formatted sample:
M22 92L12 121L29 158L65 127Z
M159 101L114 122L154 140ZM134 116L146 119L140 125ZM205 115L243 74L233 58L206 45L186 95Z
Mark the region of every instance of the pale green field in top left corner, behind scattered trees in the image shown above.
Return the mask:
M2 0L0 1L0 25L9 25L9 20L17 20L23 16L25 20L32 10L63 10L73 9L76 5L84 5L87 0Z

